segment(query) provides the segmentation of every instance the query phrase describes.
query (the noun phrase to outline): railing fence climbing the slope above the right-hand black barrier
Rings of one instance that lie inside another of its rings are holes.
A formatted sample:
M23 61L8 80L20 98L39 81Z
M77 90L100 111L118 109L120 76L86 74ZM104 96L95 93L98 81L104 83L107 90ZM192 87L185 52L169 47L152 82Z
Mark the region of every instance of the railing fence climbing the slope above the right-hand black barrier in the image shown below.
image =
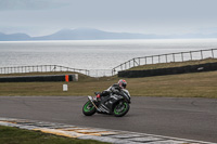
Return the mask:
M119 70L126 70L135 66L157 64L157 63L170 63L170 62L184 62L194 60L204 60L207 57L217 57L217 49L178 52L169 54L159 54L144 57L135 57L129 60L112 69L112 75L116 75Z

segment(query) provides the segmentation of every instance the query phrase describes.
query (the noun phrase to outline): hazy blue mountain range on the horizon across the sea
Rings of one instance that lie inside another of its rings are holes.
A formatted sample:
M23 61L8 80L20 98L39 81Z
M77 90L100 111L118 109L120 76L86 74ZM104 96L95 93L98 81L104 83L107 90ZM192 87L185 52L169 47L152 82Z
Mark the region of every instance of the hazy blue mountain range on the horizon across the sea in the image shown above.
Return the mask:
M93 28L62 29L58 32L41 37L30 37L26 34L7 35L0 32L0 41L25 40L108 40L108 39L190 39L190 38L217 38L217 34L186 34L186 35L145 35L130 32L110 32Z

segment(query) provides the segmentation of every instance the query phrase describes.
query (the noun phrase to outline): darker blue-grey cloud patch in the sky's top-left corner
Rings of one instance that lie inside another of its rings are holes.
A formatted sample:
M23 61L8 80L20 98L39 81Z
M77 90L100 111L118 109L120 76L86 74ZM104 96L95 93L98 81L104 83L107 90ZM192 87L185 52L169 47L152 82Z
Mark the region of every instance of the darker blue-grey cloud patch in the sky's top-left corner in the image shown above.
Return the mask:
M68 0L0 0L0 11L56 9L67 3Z

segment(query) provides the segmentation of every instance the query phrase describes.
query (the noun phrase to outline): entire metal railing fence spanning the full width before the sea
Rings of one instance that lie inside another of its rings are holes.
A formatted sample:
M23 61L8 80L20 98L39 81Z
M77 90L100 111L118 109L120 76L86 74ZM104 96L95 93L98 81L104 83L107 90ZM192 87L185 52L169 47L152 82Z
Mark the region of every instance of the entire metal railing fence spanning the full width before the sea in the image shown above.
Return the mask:
M114 76L119 70L126 70L131 67L140 66L140 65L204 60L207 57L212 57L212 58L217 57L217 49L135 57L112 69L77 69L77 68L71 68L71 67L65 67L65 66L60 66L60 65L36 65L36 66L0 67L0 74L74 71L74 73L80 73L80 74L91 76L91 77L103 77L103 76Z

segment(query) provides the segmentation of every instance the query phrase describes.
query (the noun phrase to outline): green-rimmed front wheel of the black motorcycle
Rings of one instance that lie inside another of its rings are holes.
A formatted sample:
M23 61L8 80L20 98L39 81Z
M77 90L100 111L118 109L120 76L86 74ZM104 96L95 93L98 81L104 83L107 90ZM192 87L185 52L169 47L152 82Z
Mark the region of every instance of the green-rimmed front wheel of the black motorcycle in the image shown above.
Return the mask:
M114 115L115 117L123 117L129 110L129 104L127 102L119 102L114 107Z

